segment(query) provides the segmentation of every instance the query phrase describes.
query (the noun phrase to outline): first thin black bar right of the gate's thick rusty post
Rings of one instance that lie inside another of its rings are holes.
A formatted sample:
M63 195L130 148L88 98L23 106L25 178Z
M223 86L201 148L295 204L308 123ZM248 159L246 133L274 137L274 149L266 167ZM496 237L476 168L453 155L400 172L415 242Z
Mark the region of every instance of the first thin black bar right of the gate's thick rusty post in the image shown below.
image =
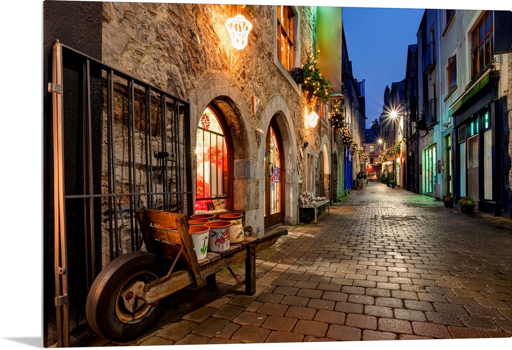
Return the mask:
M88 121L88 133L87 133L87 143L88 143L88 172L89 172L89 194L91 195L89 198L89 251L90 255L87 260L91 261L91 270L88 269L88 271L91 271L91 280L87 280L87 287L89 290L89 286L91 286L92 281L96 277L96 263L95 263L95 255L96 255L96 249L95 249L95 234L94 234L94 183L93 183L93 151L92 151L92 143L93 143L93 137L92 137L92 116L91 116L91 63L90 60L87 60L87 67L86 67L86 77L87 77L87 121ZM84 138L85 139L85 138ZM87 231L86 231L86 242L87 242ZM86 247L87 248L87 247ZM87 253L86 253L87 254ZM89 278L89 274L87 274L87 277Z

